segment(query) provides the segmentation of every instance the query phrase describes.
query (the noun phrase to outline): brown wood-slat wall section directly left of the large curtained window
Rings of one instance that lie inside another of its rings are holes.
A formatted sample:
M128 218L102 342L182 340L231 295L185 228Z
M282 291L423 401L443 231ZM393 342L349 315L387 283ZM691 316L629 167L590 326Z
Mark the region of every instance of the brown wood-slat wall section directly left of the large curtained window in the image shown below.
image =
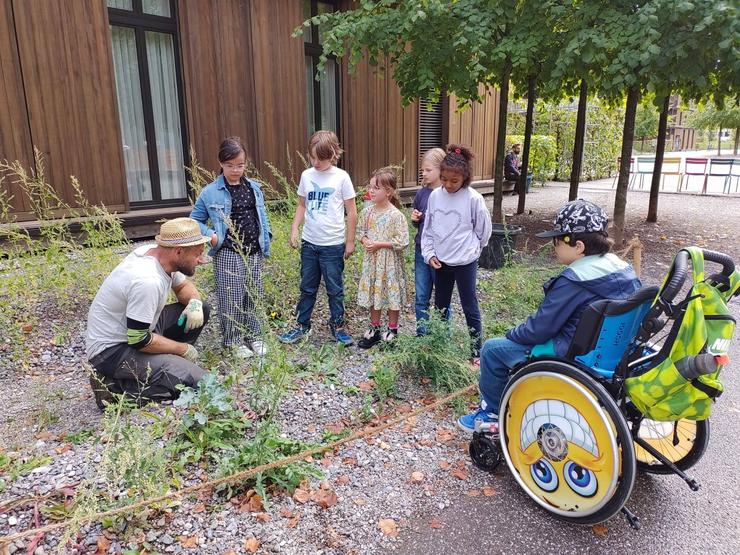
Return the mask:
M63 200L73 203L74 175L90 202L125 210L105 2L12 0L12 8L30 136L44 157L47 181Z

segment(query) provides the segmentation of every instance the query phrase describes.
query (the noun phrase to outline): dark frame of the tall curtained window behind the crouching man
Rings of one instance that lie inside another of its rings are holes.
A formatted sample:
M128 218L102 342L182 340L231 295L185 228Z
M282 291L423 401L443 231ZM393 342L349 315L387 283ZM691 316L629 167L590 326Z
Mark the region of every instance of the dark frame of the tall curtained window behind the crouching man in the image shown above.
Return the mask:
M141 105L144 116L144 137L147 145L147 161L149 163L149 179L152 187L151 200L129 201L132 209L168 208L184 206L191 197L188 186L188 171L190 166L190 151L188 149L188 128L185 120L184 83L182 78L182 64L180 57L179 18L177 2L169 0L170 17L144 13L142 0L132 0L132 10L108 8L108 24L111 27L126 27L134 30L136 41L136 63L139 71L139 85L141 87ZM177 85L178 110L180 113L180 137L182 139L182 153L185 176L185 196L173 199L162 199L162 188L159 176L159 158L157 157L157 141L154 131L154 107L152 105L151 82L149 79L149 63L146 51L146 33L153 31L172 35L173 56L175 58L175 80ZM116 103L118 100L116 99ZM120 134L120 130L119 130ZM126 184L128 194L128 183Z

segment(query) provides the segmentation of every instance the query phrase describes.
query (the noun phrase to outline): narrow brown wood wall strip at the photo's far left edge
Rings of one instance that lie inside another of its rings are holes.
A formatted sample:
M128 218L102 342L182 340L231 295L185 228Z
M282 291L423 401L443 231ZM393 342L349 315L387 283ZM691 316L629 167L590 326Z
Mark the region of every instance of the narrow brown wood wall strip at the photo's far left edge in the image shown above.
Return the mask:
M18 160L25 167L33 161L31 128L26 113L11 0L0 1L0 159ZM6 198L12 197L14 213L27 212L28 202L18 185L7 177L2 183Z

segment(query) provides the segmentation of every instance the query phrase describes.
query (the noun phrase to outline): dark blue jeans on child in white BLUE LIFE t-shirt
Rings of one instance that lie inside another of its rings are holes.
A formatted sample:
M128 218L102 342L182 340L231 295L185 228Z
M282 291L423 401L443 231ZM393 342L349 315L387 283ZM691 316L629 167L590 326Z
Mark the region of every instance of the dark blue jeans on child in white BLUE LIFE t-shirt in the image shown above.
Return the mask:
M344 325L344 243L341 245L314 245L301 243L301 297L296 313L298 324L311 327L311 313L316 304L321 278L324 278L326 296L329 298L329 325L332 329Z

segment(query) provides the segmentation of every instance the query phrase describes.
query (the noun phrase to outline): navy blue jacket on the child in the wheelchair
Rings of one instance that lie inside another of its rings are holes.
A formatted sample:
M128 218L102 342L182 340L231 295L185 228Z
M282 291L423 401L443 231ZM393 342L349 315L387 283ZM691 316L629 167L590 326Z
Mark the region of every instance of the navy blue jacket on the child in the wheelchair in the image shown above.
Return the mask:
M584 256L545 282L545 298L537 312L506 337L521 345L552 339L555 353L563 357L588 305L601 299L626 299L641 286L632 266L615 254Z

